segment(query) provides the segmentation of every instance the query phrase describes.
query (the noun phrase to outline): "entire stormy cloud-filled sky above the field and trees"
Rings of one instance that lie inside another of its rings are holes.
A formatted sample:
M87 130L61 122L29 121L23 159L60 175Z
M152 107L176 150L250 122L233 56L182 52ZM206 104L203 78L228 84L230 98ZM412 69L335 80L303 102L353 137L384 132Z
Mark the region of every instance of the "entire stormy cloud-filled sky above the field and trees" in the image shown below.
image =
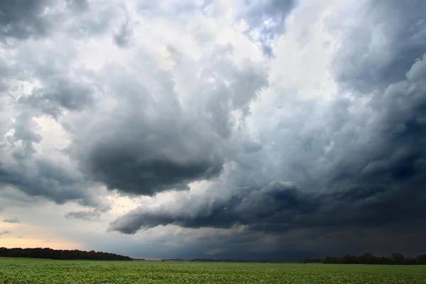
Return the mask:
M426 253L426 1L0 1L0 246Z

